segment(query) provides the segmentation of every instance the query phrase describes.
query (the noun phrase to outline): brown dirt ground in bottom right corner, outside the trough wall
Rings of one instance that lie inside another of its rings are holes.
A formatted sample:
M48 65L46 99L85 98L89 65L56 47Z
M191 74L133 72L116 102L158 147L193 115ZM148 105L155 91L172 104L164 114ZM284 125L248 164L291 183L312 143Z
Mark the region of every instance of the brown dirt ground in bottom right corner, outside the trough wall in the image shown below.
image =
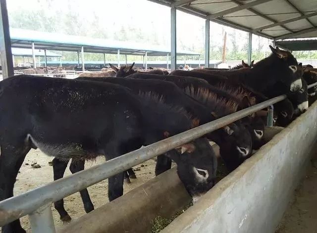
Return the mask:
M317 233L317 154L275 233Z

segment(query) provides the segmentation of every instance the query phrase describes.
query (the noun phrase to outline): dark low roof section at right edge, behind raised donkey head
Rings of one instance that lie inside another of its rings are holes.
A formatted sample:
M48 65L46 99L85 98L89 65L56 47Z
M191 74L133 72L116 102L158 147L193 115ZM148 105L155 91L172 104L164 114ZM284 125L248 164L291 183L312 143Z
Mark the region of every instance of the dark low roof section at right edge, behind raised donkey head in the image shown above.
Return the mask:
M276 41L275 45L291 51L317 50L317 39Z

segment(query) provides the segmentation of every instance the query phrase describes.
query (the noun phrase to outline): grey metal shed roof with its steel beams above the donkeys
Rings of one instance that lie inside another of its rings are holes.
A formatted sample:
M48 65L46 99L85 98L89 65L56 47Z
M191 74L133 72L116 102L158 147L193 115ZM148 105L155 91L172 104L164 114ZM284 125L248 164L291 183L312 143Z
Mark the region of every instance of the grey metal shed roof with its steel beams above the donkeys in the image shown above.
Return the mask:
M269 39L317 37L317 0L150 0Z

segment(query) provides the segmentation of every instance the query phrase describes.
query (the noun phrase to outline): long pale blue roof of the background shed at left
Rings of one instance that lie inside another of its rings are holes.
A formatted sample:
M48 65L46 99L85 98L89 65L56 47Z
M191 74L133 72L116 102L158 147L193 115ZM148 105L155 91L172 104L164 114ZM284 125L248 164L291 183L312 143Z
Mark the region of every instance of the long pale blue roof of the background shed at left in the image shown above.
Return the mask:
M110 53L116 54L120 49L120 54L166 56L170 49L159 46L147 46L137 43L111 41L104 39L94 39L89 37L69 36L59 33L39 32L24 29L10 28L11 47L31 48L34 42L37 49L80 51L84 47L84 52ZM177 50L177 55L200 55L196 52Z

